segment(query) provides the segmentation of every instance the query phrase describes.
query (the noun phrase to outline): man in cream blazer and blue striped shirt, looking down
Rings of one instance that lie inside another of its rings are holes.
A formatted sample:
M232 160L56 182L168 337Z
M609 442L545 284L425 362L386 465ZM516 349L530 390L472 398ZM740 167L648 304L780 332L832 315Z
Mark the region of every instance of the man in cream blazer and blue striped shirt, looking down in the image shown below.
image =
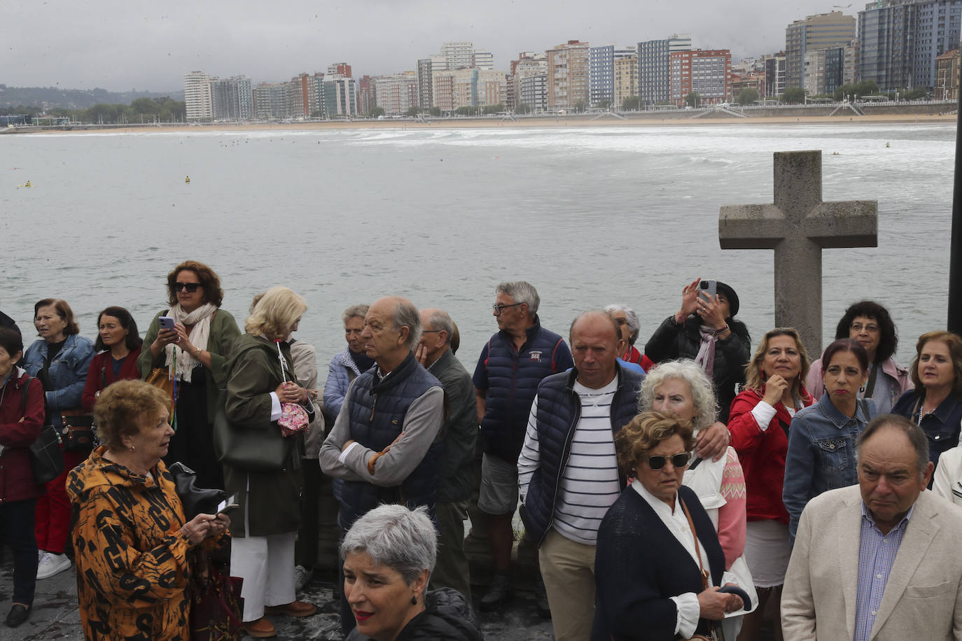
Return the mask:
M805 506L782 594L786 641L962 639L962 508L926 492L924 431L894 414L856 441L858 486Z

